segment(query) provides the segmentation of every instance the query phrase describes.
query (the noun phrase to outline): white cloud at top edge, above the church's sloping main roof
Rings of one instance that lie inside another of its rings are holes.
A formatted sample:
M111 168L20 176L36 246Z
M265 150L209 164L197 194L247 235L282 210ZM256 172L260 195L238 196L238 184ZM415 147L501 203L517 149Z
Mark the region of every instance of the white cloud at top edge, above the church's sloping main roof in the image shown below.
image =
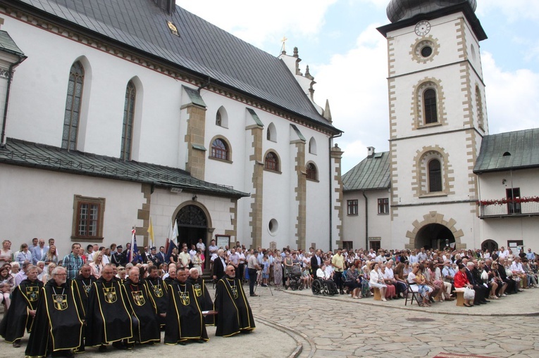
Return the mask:
M204 20L254 46L261 47L267 41L280 49L283 35L288 38L316 36L323 26L326 11L335 1L206 0L181 1L178 5L192 13L204 13Z

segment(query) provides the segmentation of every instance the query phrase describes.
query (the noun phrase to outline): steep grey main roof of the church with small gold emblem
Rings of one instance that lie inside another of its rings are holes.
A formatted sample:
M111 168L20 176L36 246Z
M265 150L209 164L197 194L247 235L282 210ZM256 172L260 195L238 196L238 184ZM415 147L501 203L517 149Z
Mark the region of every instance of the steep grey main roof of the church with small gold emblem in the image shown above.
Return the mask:
M273 103L335 132L318 114L285 63L179 6L168 14L154 0L17 0L57 21L76 24ZM178 30L172 34L170 21Z

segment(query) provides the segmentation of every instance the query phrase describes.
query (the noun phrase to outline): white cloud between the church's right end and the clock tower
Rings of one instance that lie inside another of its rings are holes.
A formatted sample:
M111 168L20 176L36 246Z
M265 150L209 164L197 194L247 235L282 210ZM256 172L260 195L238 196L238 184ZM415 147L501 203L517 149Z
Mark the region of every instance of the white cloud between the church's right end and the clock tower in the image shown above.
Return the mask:
M345 133L335 139L345 151L342 174L366 157L366 147L388 150L387 44L369 25L357 37L356 46L337 54L329 63L310 65L315 76L315 101L330 102L333 125Z

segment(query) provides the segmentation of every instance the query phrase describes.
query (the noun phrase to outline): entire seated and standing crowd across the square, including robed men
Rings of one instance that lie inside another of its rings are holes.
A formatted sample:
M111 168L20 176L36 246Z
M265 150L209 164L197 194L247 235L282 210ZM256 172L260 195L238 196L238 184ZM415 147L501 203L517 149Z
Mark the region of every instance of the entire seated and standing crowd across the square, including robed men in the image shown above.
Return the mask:
M26 355L130 349L135 343L185 345L208 340L206 326L229 336L254 329L249 295L256 286L311 288L315 280L330 294L366 298L378 290L382 301L409 294L420 306L454 300L466 290L464 306L483 305L526 288L538 287L539 257L531 249L518 255L505 248L488 250L293 250L256 248L239 242L206 250L199 243L166 255L152 247L131 253L130 243L108 248L74 243L61 257L54 239L0 250L0 291L5 305L0 335L20 347L30 333ZM179 252L179 253L178 253ZM209 257L206 262L205 254ZM130 260L130 259L131 260ZM131 261L131 262L129 262ZM202 273L209 264L216 294L208 293ZM54 314L51 314L53 313ZM80 334L73 334L78 332Z

